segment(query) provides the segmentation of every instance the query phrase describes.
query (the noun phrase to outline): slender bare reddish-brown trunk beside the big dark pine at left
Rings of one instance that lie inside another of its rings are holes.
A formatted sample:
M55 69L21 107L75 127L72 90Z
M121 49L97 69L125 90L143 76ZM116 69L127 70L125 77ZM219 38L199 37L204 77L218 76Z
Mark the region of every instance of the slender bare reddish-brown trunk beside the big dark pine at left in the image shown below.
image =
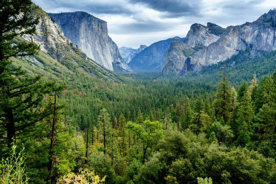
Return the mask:
M53 116L53 124L52 124L52 135L51 135L51 145L50 145L50 159L48 165L48 182L52 183L52 167L53 167L53 148L54 148L54 136L55 136L55 125L56 125L56 91L54 98L54 116Z

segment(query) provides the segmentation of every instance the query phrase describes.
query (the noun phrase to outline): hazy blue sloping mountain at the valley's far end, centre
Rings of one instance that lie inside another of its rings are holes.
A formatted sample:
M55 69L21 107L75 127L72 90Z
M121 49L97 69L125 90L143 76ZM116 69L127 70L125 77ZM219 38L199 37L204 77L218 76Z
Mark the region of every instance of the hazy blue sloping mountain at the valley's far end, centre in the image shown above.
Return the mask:
M185 38L176 36L153 43L132 58L128 65L133 71L161 71L165 53L173 40L184 41Z

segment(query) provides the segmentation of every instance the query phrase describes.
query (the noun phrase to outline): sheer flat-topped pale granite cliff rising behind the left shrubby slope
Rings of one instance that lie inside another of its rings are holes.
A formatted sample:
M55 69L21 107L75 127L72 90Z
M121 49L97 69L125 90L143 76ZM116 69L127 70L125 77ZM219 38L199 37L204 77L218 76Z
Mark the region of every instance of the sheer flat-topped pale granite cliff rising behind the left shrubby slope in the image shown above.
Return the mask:
M64 35L77 44L89 58L112 71L112 63L124 71L130 71L119 53L117 44L108 36L105 21L86 12L48 15L62 28Z

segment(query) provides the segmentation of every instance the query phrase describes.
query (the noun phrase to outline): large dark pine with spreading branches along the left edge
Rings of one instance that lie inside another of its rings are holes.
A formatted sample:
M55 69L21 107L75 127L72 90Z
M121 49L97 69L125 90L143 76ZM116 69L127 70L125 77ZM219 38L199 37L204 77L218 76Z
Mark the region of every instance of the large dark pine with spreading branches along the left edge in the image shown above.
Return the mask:
M31 56L39 49L33 41L13 44L17 36L35 33L38 20L29 16L32 2L1 1L0 5L0 120L1 129L5 130L2 138L10 147L19 132L51 113L41 112L39 106L53 84L40 82L40 76L29 77L10 61L10 57Z

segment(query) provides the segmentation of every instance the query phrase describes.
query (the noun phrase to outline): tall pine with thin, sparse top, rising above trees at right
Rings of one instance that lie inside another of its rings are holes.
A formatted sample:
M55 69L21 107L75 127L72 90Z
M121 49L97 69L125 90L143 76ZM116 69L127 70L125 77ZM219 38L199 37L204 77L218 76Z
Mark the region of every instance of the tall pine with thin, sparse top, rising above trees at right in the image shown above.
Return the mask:
M226 123L229 120L230 112L232 112L233 104L231 87L229 85L230 81L226 77L226 75L230 74L225 74L225 65L221 68L223 69L223 74L220 74L222 80L218 83L217 93L215 94L217 99L214 101L214 108L217 120L223 117Z

